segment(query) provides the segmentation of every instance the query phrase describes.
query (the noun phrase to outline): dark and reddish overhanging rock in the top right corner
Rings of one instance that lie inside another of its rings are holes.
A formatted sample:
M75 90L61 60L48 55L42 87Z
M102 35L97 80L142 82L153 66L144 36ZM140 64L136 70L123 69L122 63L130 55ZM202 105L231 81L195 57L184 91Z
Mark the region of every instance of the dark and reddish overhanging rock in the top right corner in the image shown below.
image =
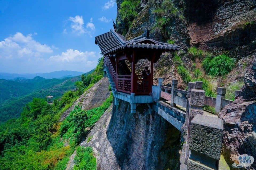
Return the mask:
M229 50L237 58L255 49L255 1L187 0L185 4L191 45Z

